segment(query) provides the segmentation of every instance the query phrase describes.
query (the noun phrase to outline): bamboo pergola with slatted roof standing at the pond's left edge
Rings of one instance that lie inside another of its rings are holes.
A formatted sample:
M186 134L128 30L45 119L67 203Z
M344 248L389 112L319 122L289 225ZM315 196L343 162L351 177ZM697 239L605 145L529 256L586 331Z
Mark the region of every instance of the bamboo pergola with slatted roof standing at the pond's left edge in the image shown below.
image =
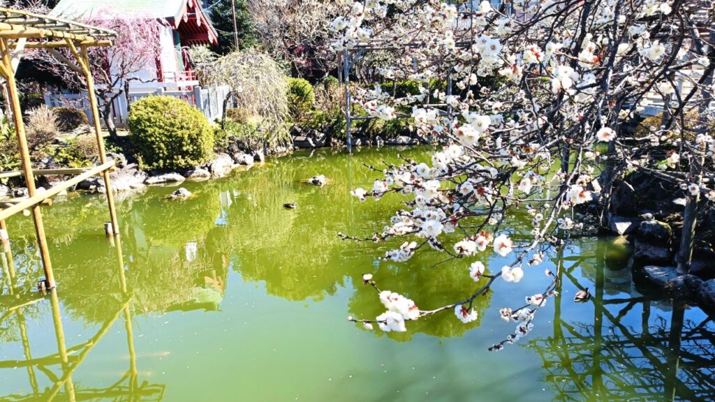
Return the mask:
M31 209L34 218L35 232L39 246L42 264L45 273L44 285L47 289L55 287L52 264L47 247L47 240L42 223L40 205L46 203L54 195L77 185L82 180L94 175L104 177L107 203L109 205L109 218L111 226L107 224L108 235L118 235L117 212L114 209L112 196L112 183L109 180L109 170L114 167L113 161L107 161L107 152L102 139L102 127L99 123L99 110L97 97L94 94L94 79L90 70L87 49L97 46L112 46L112 39L117 34L109 29L80 24L76 21L54 18L46 15L32 14L25 11L0 8L0 76L5 79L8 100L12 108L12 117L15 122L15 132L19 144L22 170L18 172L1 172L0 179L5 177L24 176L29 197L14 199L6 202L11 205L0 209L0 237L7 237L5 220L18 212ZM69 49L72 59L64 57L57 49ZM30 152L27 145L25 126L22 121L22 111L17 92L15 73L24 49L46 49L56 59L67 64L75 72L81 74L87 82L89 104L92 108L94 131L99 149L99 166L88 170L32 170ZM37 175L75 175L70 180L60 182L49 190L38 191L35 187Z

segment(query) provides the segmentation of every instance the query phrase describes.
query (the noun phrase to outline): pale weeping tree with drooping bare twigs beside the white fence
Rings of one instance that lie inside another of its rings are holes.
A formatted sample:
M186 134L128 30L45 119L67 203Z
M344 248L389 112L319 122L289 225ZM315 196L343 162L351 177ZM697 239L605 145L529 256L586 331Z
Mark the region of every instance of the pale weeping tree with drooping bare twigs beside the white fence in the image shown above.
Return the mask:
M202 49L192 50L191 54L206 84L230 86L224 111L232 98L243 122L255 124L260 132L265 132L265 141L276 143L287 139L288 82L275 60L255 49L233 52L219 59ZM226 112L222 127L225 120Z

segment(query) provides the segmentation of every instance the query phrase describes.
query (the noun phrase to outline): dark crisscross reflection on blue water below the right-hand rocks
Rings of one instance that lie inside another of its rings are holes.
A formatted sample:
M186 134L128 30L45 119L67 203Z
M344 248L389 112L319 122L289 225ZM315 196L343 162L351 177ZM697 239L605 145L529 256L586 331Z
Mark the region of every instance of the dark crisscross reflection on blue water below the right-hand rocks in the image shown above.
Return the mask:
M556 298L553 336L530 345L543 360L546 379L558 401L712 401L715 398L715 335L711 320L684 319L686 306L674 302L669 322L651 320L643 297L604 298L603 247L597 253L593 320L561 318ZM563 279L582 288L571 268ZM642 306L640 328L622 323ZM653 322L651 322L653 321Z

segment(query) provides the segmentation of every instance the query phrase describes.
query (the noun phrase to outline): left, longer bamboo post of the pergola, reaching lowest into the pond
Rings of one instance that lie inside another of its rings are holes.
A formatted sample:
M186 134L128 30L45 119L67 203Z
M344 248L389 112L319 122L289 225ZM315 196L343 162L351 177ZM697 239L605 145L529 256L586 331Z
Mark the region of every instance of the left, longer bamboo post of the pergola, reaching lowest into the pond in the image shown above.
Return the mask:
M0 38L0 51L2 52L2 74L7 81L7 89L10 104L12 107L12 115L15 121L15 132L17 141L19 142L20 157L22 160L22 170L25 173L25 184L30 197L35 195L35 178L32 174L32 162L30 161L30 151L27 147L27 137L25 134L25 124L22 121L22 112L20 110L20 101L17 93L17 84L15 82L15 74L12 69L12 59L10 57L7 39ZM32 217L35 222L35 234L37 244L39 246L40 256L42 258L42 267L45 274L45 286L48 289L55 287L54 274L52 273L52 262L49 258L49 248L47 247L47 239L44 232L44 223L42 222L42 212L39 205L32 207Z

